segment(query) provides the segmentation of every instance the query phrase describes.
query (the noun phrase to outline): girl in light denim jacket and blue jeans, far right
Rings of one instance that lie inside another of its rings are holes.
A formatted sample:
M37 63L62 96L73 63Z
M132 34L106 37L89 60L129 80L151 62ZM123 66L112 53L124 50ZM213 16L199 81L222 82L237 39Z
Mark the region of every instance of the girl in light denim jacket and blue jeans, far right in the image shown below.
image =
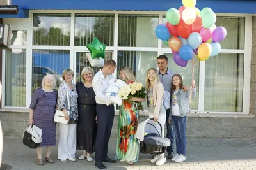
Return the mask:
M179 74L172 76L171 107L169 124L173 125L176 140L176 155L171 159L173 162L184 162L186 160L186 121L189 109L190 90L182 90L183 82ZM192 98L196 96L195 80L192 83Z

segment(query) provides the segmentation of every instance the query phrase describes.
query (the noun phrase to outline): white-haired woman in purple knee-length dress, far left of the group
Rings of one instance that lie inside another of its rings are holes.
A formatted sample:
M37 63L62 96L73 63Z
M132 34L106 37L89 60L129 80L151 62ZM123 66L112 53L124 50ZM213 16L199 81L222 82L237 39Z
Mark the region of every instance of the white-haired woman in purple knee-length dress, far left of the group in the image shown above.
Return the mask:
M45 161L53 163L50 158L53 146L56 145L56 122L54 113L57 103L56 80L51 74L47 74L42 81L42 88L38 88L33 93L29 109L29 125L35 124L42 129L42 142L36 148L37 164L43 165L42 147L46 146Z

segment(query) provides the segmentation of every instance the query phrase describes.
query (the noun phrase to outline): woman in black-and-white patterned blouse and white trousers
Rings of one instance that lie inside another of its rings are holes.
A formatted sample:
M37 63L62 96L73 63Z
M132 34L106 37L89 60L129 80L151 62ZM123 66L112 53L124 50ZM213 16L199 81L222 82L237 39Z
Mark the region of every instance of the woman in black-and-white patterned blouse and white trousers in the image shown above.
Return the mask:
M60 124L59 127L59 145L58 159L61 162L76 161L76 123L78 120L76 86L72 83L74 72L71 69L65 69L62 73L64 83L60 84L58 89L58 109L65 112L65 118L69 120L68 124ZM68 112L69 115L68 115Z

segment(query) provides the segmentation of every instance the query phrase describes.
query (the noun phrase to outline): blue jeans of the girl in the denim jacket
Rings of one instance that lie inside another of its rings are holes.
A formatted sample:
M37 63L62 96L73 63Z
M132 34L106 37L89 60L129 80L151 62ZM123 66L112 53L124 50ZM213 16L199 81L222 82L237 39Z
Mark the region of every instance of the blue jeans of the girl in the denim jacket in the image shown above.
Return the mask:
M186 155L187 138L186 138L187 117L172 116L172 125L176 139L177 154Z

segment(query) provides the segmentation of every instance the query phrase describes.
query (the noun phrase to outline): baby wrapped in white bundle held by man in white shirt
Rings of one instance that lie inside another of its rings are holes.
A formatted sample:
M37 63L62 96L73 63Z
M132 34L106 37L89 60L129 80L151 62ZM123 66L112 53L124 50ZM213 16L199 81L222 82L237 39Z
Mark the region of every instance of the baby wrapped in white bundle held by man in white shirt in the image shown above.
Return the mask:
M113 78L109 81L109 87L105 93L105 95L108 96L111 101L118 104L118 106L121 106L123 101L122 98L118 97L118 90L124 85L126 85L125 81Z

